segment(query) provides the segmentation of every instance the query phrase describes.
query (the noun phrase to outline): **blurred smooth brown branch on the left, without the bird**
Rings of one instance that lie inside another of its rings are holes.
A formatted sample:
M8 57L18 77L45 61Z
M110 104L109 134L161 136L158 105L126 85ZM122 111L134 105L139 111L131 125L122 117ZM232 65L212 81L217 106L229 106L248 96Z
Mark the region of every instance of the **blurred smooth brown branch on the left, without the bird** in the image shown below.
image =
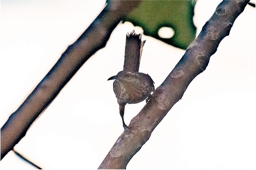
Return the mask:
M107 1L92 24L60 59L1 128L1 159L23 138L36 118L49 106L77 70L105 47L113 29L140 1Z

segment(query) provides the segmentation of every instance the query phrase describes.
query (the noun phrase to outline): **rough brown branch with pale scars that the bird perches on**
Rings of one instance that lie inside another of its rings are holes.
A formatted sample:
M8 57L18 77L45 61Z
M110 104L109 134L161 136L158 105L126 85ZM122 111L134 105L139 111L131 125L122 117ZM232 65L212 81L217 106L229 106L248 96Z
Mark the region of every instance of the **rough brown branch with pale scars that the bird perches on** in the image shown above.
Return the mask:
M152 95L145 107L131 120L130 131L124 131L107 154L99 169L125 169L130 159L148 141L163 117L181 99L189 83L203 72L210 56L217 51L235 19L249 1L222 1L206 22L198 37Z

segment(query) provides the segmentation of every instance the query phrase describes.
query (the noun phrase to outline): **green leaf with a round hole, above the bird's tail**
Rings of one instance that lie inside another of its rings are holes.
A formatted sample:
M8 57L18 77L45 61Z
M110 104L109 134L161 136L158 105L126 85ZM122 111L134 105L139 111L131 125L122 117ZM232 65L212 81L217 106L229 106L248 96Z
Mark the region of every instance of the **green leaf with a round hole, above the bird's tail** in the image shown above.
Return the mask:
M193 23L195 1L149 1L144 0L141 5L132 11L124 21L142 27L145 35L186 49L195 39L196 28ZM169 27L174 30L171 38L161 38L158 30Z

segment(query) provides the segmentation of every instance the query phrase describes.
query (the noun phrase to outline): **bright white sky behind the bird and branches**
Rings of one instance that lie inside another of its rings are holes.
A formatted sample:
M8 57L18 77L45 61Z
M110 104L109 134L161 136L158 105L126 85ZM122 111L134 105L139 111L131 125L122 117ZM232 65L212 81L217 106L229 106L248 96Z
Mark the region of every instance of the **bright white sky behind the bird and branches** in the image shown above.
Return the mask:
M198 0L200 32L220 0ZM1 1L0 125L101 11L105 1ZM97 169L123 132L109 77L123 69L125 35L119 24L38 118L15 150L44 169ZM247 6L221 41L206 70L189 85L131 159L127 169L256 167L255 8ZM140 72L160 86L185 53L143 36ZM125 108L125 122L145 101ZM32 168L9 152L1 169Z

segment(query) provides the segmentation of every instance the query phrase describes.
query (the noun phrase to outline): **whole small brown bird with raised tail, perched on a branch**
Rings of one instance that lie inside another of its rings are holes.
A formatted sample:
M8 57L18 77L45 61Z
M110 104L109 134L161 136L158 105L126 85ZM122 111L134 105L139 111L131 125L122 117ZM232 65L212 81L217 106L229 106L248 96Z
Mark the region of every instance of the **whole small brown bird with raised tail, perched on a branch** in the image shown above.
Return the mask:
M148 102L151 92L155 91L154 82L148 74L139 73L139 63L145 41L141 41L142 34L135 30L126 34L124 70L108 80L114 80L113 88L124 130L128 127L124 123L124 107L126 103L139 103L146 99Z

